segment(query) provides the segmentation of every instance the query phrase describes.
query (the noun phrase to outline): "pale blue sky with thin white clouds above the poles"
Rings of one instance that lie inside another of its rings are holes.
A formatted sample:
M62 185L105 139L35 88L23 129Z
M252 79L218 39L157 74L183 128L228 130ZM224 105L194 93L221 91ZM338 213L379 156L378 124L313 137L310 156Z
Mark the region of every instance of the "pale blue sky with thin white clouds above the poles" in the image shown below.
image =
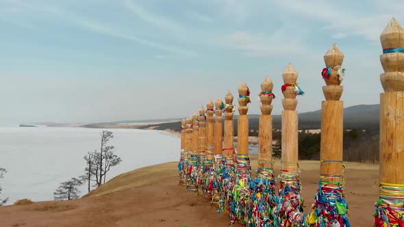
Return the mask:
M379 103L379 36L403 10L402 0L0 0L0 125L183 118L243 81L260 114L266 76L280 114L289 62L305 91L297 110L314 111L333 43L344 106Z

